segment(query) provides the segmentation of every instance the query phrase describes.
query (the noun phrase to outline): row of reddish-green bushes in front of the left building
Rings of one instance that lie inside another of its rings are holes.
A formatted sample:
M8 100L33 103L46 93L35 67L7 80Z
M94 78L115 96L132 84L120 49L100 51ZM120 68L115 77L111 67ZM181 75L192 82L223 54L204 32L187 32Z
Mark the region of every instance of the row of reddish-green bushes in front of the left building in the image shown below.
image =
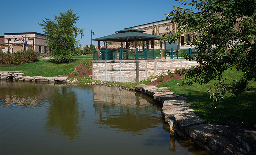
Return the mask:
M23 63L33 63L38 61L39 53L34 50L17 51L16 53L0 53L0 64L20 65Z

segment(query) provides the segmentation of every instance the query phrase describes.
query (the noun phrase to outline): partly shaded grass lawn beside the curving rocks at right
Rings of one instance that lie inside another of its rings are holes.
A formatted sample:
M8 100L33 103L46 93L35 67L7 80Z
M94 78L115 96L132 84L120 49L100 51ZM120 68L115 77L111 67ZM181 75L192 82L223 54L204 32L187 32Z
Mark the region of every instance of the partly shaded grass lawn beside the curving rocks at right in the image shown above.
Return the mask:
M226 71L223 75L233 81L241 77L242 73L233 69ZM256 82L251 81L249 86L252 86L252 89L238 97L228 94L215 108L212 106L213 101L208 93L210 88L213 89L214 81L203 85L193 84L178 87L177 83L184 79L171 80L158 85L158 87L169 87L169 90L175 94L187 96L186 103L191 105L189 108L192 108L195 114L206 120L207 123L225 125L226 121L232 121L256 126Z

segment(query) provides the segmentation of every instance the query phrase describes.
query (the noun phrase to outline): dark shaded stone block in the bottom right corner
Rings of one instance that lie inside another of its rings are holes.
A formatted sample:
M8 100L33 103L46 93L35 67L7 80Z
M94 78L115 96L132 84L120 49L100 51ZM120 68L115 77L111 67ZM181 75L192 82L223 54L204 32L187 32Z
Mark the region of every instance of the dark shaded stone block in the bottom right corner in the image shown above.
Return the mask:
M248 151L256 151L256 131L249 124L226 121L226 135L239 142Z

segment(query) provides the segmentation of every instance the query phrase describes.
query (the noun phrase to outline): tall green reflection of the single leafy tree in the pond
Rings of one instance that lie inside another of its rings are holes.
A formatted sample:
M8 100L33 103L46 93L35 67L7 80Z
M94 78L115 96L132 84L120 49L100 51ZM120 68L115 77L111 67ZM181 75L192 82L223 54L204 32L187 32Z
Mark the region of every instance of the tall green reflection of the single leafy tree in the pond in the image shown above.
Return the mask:
M49 98L45 129L50 133L61 133L69 139L79 137L80 126L77 96L72 87L61 87Z

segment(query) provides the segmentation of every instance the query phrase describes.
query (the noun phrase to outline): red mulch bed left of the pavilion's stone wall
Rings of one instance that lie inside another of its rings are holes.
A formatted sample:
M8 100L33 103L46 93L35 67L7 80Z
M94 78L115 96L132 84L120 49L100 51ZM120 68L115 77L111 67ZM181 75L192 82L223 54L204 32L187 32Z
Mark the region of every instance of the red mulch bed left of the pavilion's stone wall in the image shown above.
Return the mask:
M91 65L91 62L89 62L89 64ZM81 69L82 67L82 69ZM91 77L93 75L93 70L92 67L91 69L88 70L88 66L80 64L78 66L76 66L75 71L77 71L76 73L78 73L77 76L82 76L82 77ZM68 74L68 75L60 75L58 77L64 77L64 76L68 76L68 77L76 77L74 74Z

